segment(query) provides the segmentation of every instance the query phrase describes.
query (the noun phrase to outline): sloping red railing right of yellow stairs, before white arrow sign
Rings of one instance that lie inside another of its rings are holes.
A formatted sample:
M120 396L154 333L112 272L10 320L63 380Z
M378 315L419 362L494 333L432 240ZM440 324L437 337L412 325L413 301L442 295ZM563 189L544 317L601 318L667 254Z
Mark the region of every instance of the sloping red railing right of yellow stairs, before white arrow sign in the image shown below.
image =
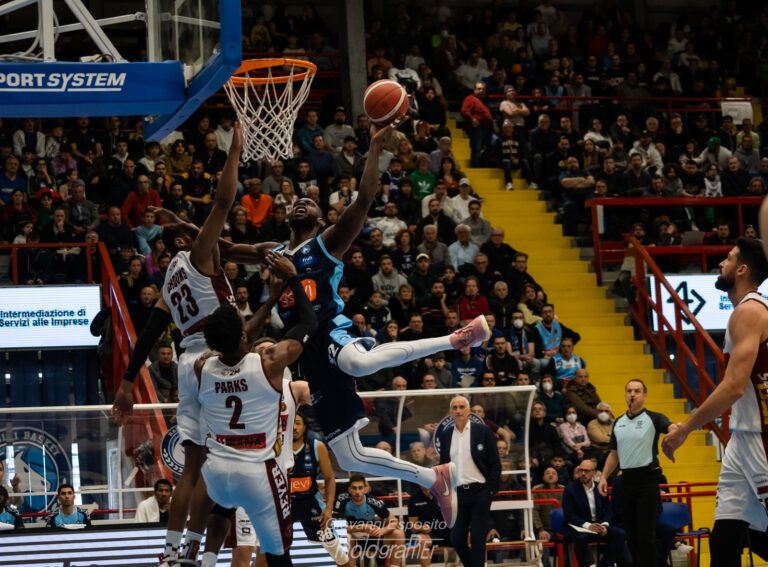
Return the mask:
M699 407L707 398L709 393L717 387L717 384L707 374L706 360L707 351L717 362L717 380L723 375L725 370L725 357L720 348L709 336L709 333L696 320L693 313L688 309L688 305L677 295L672 285L664 277L664 273L653 261L653 257L648 253L650 250L642 246L634 237L630 236L628 251L635 258L635 277L634 283L637 290L635 301L630 304L630 314L637 325L640 335L644 340L656 349L659 359L664 368L669 370L677 380L683 395L690 400L694 406ZM656 299L646 289L646 268L654 276L654 287ZM669 294L669 300L674 304L675 317L670 321L664 315L664 307L661 302L662 287ZM649 315L656 317L659 330L654 332L649 325ZM695 340L694 350L685 342L685 330L683 328L684 320L693 325L693 336ZM671 337L675 342L676 353L670 356L667 352L667 337ZM696 371L698 378L698 393L696 393L688 382L687 365L690 364ZM726 412L722 418L722 425L714 421L709 422L705 427L710 429L724 445L728 443L730 437L728 421L729 413Z

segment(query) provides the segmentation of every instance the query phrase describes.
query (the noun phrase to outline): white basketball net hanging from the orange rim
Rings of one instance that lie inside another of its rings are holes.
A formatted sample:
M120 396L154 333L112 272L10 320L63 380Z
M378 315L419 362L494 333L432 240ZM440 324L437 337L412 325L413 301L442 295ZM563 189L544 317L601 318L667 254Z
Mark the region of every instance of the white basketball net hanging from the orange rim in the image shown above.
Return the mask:
M305 71L303 79L293 80L294 74ZM256 84L246 74L242 85L235 85L231 79L224 85L243 130L244 162L293 157L293 125L309 96L314 73L291 65L287 76L286 83L275 83L272 69L268 68L265 82L262 77Z

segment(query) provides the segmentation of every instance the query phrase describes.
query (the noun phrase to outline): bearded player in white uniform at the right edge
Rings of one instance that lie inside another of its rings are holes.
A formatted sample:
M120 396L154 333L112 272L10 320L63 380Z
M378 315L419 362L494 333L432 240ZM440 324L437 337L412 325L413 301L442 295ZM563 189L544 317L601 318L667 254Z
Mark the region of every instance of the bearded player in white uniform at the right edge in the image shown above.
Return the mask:
M715 284L734 306L723 349L725 375L662 443L664 453L674 460L675 450L692 431L732 408L732 434L720 469L709 540L712 567L741 565L747 530L753 551L768 559L768 301L757 293L766 277L762 243L739 238L720 263Z

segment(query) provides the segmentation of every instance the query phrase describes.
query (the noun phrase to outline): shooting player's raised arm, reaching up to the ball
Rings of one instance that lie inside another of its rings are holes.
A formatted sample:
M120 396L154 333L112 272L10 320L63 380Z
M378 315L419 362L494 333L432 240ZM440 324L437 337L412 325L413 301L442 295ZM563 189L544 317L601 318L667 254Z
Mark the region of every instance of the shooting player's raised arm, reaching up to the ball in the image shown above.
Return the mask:
M400 122L393 123L392 126L371 125L371 145L368 149L368 157L365 159L363 175L360 178L357 199L344 210L336 224L321 236L325 248L337 258L341 258L349 249L365 226L368 209L371 208L379 186L379 155L384 148L384 142L392 132L392 127L397 127L399 124Z

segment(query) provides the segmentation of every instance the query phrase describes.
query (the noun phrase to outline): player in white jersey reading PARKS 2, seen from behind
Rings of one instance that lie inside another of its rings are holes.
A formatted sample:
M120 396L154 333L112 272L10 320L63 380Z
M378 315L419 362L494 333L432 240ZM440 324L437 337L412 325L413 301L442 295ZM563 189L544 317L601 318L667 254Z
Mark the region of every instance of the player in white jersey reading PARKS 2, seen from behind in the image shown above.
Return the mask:
M285 259L270 253L267 262L276 270L276 263ZM283 340L260 354L249 352L243 317L235 307L223 306L208 317L203 330L208 346L220 354L195 362L198 400L208 428L202 469L208 495L223 508L245 509L270 567L291 565L290 488L276 460L282 452L283 376L318 325L298 277L287 283L301 316ZM216 554L206 551L202 567L215 563Z

